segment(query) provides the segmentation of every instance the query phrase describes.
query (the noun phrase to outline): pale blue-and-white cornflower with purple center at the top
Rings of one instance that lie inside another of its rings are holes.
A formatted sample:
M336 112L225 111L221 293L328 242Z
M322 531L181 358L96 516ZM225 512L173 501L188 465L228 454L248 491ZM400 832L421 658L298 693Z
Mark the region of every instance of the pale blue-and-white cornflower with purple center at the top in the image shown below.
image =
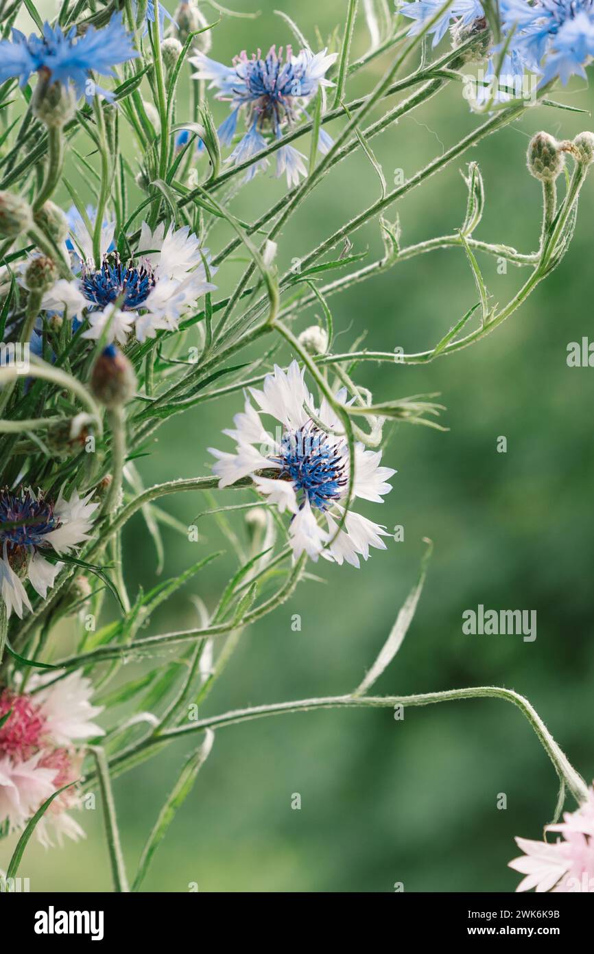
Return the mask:
M197 67L194 78L210 80L216 98L231 102L231 113L218 129L223 145L232 144L239 114L245 116L247 132L227 161L238 164L255 156L268 145L266 134L279 139L287 127L294 127L301 115L307 115L305 106L320 86L332 86L325 74L336 58L336 53L326 55L325 50L301 50L294 56L291 47L284 54L282 48L277 52L271 47L264 58L259 50L252 57L243 52L231 67L201 52L191 57L190 62ZM317 145L320 152L327 153L332 139L321 131ZM303 158L293 146L282 146L277 151L277 176L284 174L289 185L296 183L306 172ZM250 167L246 179L267 165L268 159L260 160Z

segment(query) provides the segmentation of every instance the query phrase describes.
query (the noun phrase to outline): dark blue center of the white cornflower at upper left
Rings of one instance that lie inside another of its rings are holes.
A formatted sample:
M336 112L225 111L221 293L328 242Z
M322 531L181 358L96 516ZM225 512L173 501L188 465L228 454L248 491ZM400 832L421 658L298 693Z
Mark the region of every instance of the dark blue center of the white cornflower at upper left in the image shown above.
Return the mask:
M82 293L98 308L107 308L118 299L122 311L141 308L156 284L151 265L122 264L116 252L106 255L98 272L83 266Z

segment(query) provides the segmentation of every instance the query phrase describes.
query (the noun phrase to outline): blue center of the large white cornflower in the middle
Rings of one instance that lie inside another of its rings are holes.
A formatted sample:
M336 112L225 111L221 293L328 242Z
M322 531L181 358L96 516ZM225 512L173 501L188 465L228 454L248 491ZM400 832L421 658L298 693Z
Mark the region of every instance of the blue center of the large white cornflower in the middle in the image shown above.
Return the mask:
M280 453L273 460L280 465L280 478L289 479L297 493L319 510L331 507L347 484L340 447L311 422L283 434Z

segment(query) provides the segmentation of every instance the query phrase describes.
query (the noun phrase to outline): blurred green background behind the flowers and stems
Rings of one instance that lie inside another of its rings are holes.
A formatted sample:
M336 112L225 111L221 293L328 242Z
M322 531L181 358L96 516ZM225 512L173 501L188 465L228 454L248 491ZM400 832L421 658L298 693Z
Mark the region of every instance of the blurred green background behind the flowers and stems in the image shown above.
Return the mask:
M315 45L343 22L346 2L297 8L286 0L250 0L237 9L261 10L255 20L223 18L211 55L227 62L292 40L273 12L285 10ZM173 10L173 6L170 6ZM213 10L204 7L209 19ZM27 29L30 25L27 24ZM359 13L354 55L368 34ZM382 59L350 81L347 98L371 89L385 69ZM178 119L184 113L180 93ZM589 110L582 81L556 98ZM215 104L215 115L226 109ZM469 113L452 85L426 107L402 119L373 148L389 182L394 171L413 175L481 120ZM338 126L336 127L338 128ZM537 246L540 187L525 168L529 136L544 129L560 137L591 129L589 114L539 108L522 122L483 141L460 162L413 191L398 205L402 242L409 244L460 226L465 162L481 164L486 211L477 238L503 241L522 251ZM306 142L307 140L305 140ZM308 146L303 151L308 152ZM130 143L133 155L133 143ZM79 180L81 195L92 200ZM283 182L258 176L234 203L251 219L282 195ZM328 176L292 220L279 244L282 267L306 252L345 218L378 196L379 183L363 156ZM568 368L568 342L592 333L592 201L587 181L575 238L561 267L491 337L427 367L362 364L357 380L378 401L439 391L447 406L439 433L400 425L385 452L398 468L394 490L379 508L364 512L389 528L404 527L402 543L388 541L361 570L323 564L324 584L306 582L294 598L247 633L201 716L263 702L349 691L358 684L411 588L429 536L435 552L413 626L396 661L382 676L382 694L429 692L495 684L531 700L586 779L594 776L591 738L594 640L592 639L591 472L594 463L591 401L594 370ZM70 204L66 194L64 204ZM394 210L390 210L394 218ZM217 249L227 235L215 232ZM354 251L380 253L379 227L353 236ZM220 270L224 292L240 266ZM497 273L481 257L493 301L503 303L527 271ZM396 265L384 275L333 298L338 342L345 349L367 330L370 348L420 350L439 341L475 301L461 249L440 251ZM298 327L311 323L316 309ZM284 355L288 358L288 354ZM147 484L209 470L208 446L226 447L220 430L239 409L238 395L174 418L158 432L151 457L139 461ZM496 450L507 438L507 453ZM217 497L217 500L219 498ZM236 503L236 492L220 494ZM184 523L203 509L198 495L165 504ZM241 515L238 532L244 533ZM165 530L166 575L200 555L225 547L214 523L198 544ZM157 582L153 544L141 519L124 538L130 591ZM229 549L227 547L227 549ZM143 634L195 625L191 595L212 609L233 570L228 553L155 615ZM536 610L538 637L469 636L461 613L478 604ZM300 613L300 633L291 616ZM71 631L73 634L73 631ZM124 851L130 868L187 745L176 744L115 781ZM293 793L301 810L291 808ZM497 808L499 793L507 809ZM557 798L557 778L519 711L496 700L464 701L409 709L324 711L276 716L219 731L195 789L174 819L155 858L146 890L187 891L511 891L519 876L506 868L518 854L514 836L540 838ZM570 809L574 806L570 799ZM22 874L31 890L110 890L99 812L81 819L88 839L45 853L28 848ZM0 864L6 860L5 845ZM25 870L26 869L26 870Z

